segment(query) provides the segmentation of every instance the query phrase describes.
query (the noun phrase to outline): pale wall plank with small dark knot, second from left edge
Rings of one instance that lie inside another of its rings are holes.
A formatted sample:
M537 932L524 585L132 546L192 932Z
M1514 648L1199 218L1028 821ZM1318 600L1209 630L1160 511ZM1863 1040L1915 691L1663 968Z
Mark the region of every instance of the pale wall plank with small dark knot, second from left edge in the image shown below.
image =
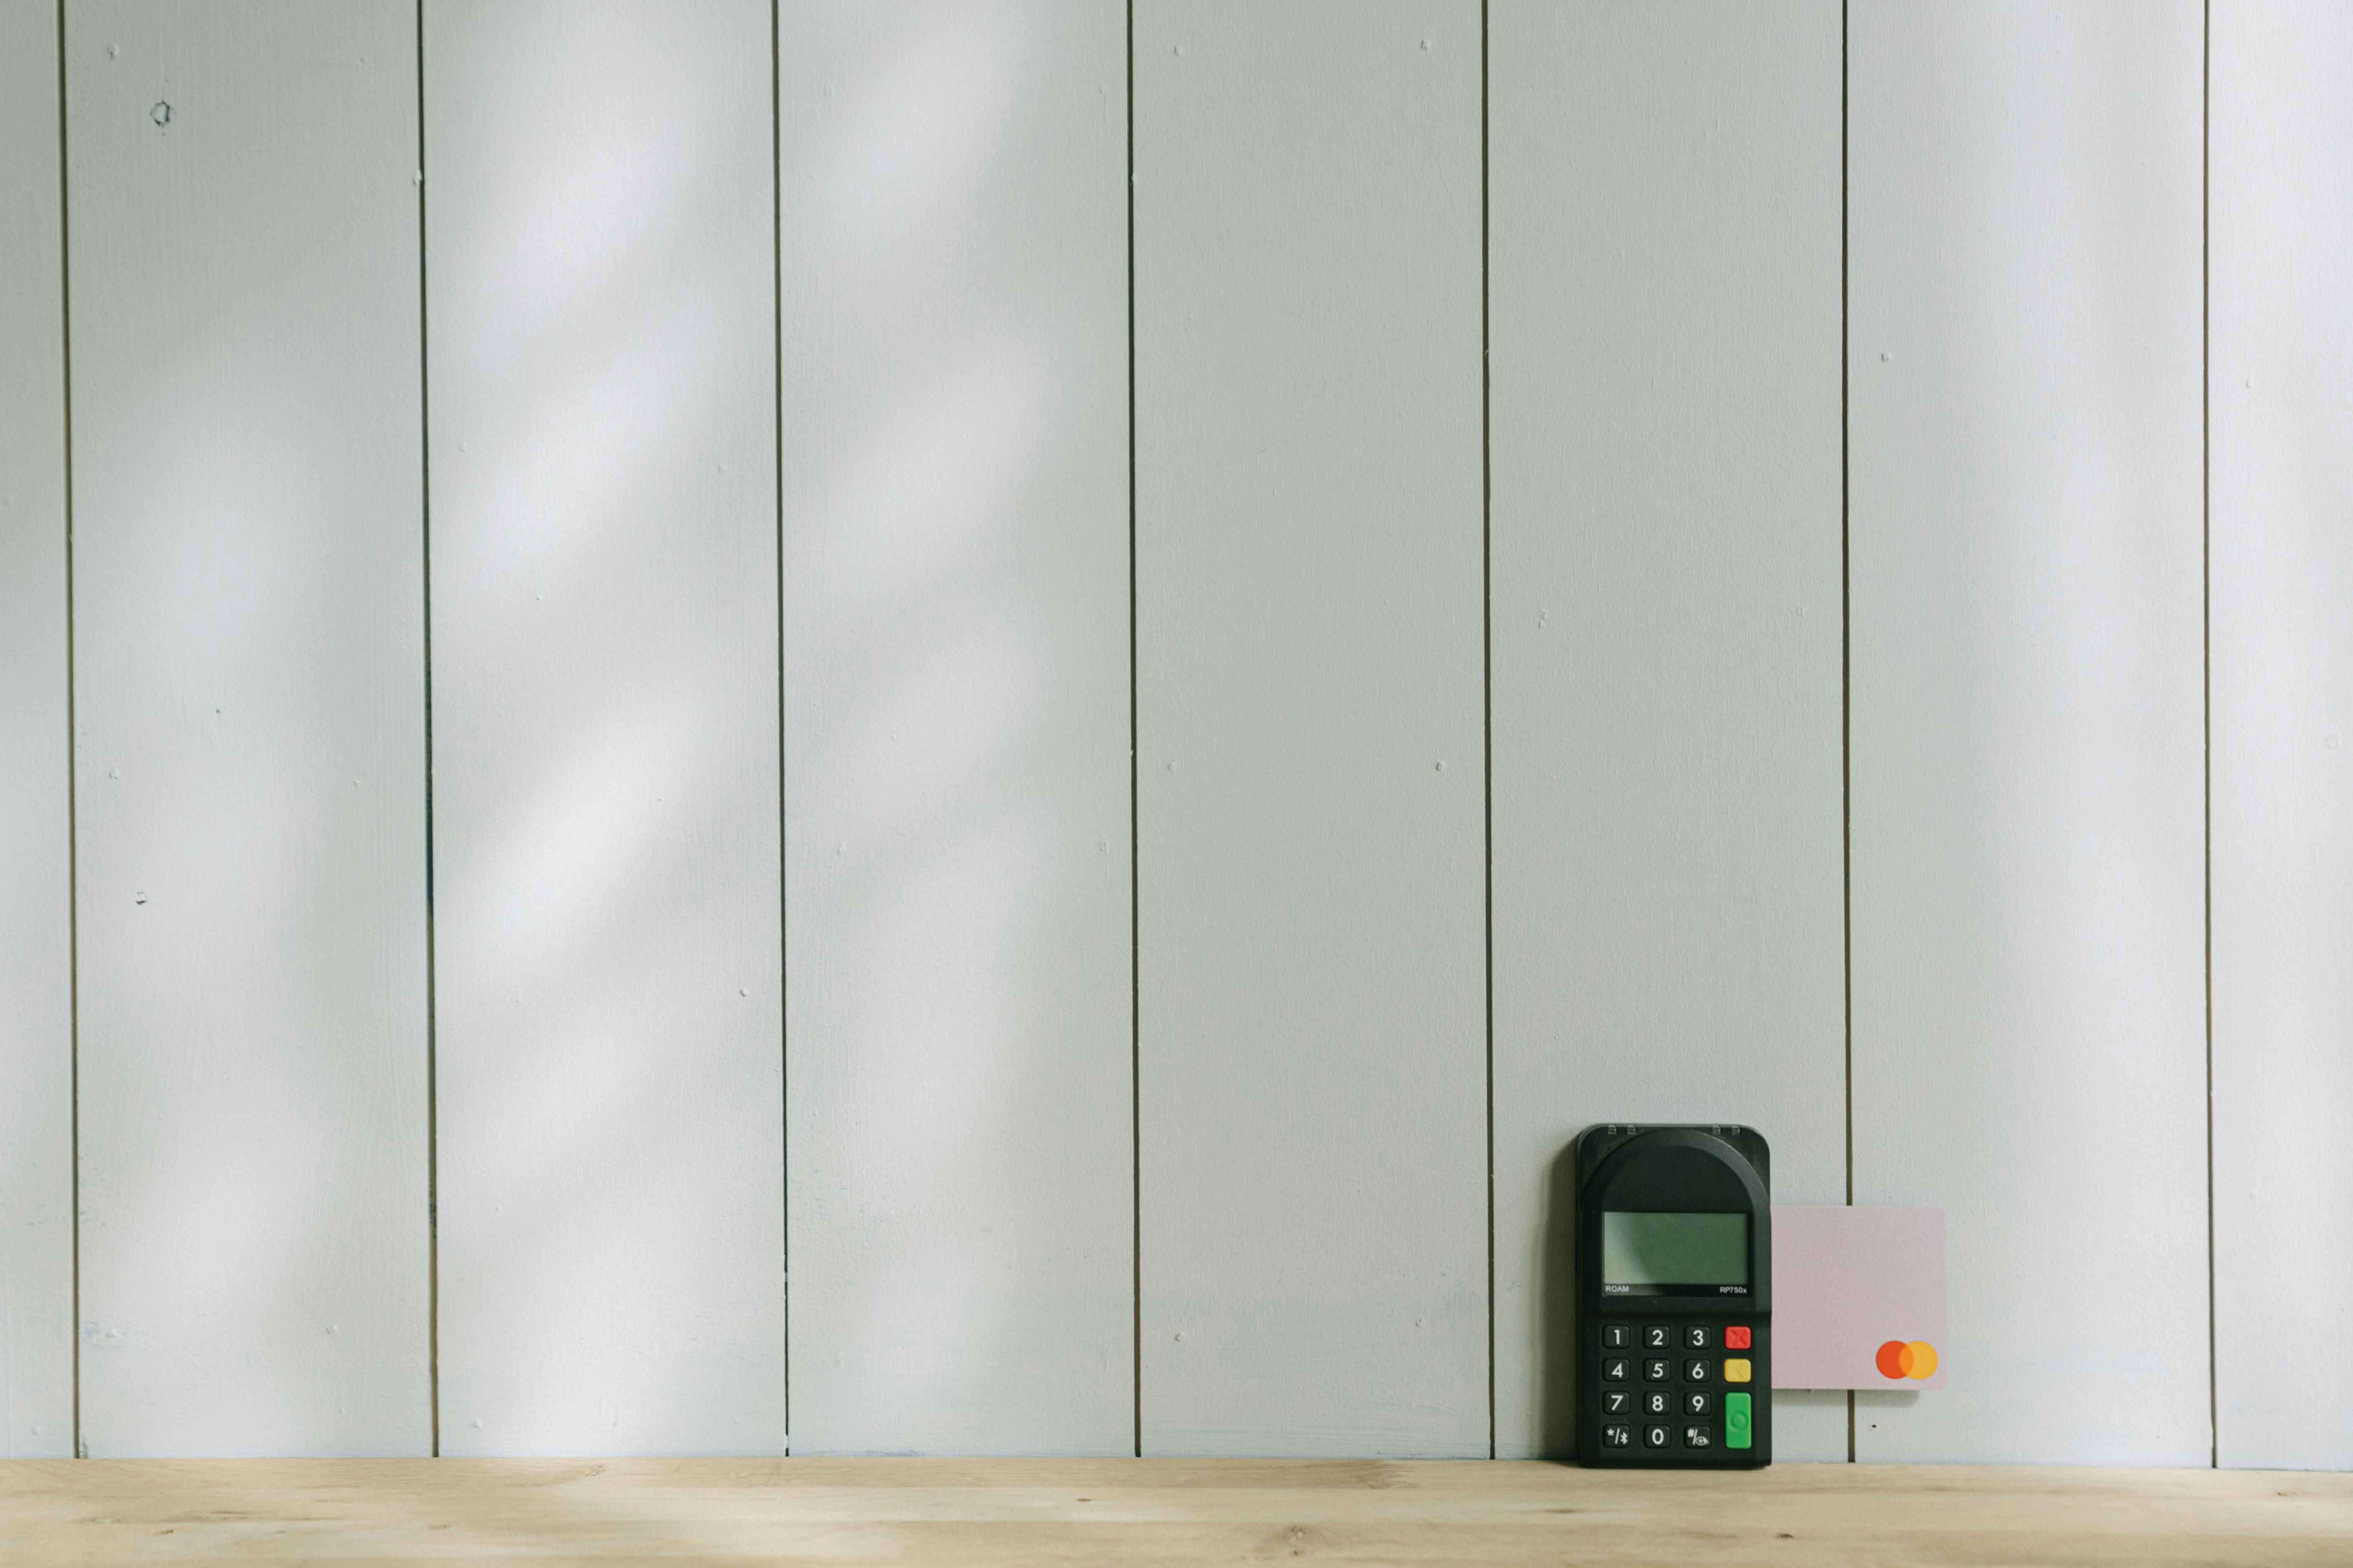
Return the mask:
M82 1434L426 1453L416 19L66 19Z

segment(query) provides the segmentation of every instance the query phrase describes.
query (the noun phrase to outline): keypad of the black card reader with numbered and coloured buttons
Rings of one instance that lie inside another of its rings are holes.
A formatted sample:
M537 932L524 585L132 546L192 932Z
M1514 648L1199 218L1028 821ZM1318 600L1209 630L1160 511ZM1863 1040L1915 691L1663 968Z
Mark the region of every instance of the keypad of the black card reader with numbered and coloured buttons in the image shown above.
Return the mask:
M1746 1354L1755 1349L1751 1324L1602 1324L1600 1342L1602 1382L1640 1385L1600 1389L1602 1448L1642 1448L1673 1465L1685 1453L1697 1460L1755 1443L1748 1389L1765 1371Z

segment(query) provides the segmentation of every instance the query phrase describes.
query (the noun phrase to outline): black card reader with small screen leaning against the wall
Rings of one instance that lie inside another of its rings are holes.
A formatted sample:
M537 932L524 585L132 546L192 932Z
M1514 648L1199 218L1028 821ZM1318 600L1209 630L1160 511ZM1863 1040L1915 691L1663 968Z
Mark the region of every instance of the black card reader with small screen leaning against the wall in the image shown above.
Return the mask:
M1772 1152L1748 1126L1577 1138L1577 1458L1772 1462Z

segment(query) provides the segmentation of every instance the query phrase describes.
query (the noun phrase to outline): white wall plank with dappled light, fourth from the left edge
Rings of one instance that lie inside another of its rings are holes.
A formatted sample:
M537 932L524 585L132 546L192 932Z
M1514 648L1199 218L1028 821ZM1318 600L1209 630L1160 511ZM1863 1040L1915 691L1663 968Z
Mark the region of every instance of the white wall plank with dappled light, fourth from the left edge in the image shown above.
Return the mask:
M1127 1453L1125 16L776 49L793 1448Z

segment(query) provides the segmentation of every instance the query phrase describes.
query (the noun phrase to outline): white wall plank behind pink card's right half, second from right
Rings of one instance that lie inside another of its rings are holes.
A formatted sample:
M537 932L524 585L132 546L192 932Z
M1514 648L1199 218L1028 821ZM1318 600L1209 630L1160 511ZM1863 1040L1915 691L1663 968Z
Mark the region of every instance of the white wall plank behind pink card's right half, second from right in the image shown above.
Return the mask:
M2202 9L1849 28L1854 1201L1951 1222L1857 1453L2205 1465Z

